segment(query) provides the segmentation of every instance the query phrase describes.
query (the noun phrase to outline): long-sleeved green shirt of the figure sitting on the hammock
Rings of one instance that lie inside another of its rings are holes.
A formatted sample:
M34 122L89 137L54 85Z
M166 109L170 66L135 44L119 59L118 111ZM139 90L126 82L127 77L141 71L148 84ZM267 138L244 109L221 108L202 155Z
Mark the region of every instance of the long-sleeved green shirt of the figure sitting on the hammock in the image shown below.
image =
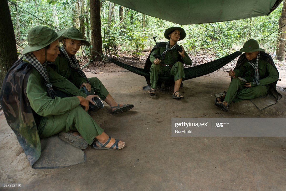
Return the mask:
M153 63L154 60L156 59L153 54L162 54L164 51L166 50L166 47L158 47L155 50L153 50L153 52L150 55L150 61ZM172 56L173 55L173 56ZM184 62L184 64L186 65L192 65L192 60L190 59L190 57L188 56L188 54L186 53L186 51L184 52L185 57L182 58L181 55L178 53L178 50L171 50L166 52L165 54L165 58L164 60L162 59L162 57L160 57L159 59L162 60L162 64L166 64L166 65L172 65L175 64L176 62L179 61L179 59L181 58ZM173 59L174 57L174 59Z

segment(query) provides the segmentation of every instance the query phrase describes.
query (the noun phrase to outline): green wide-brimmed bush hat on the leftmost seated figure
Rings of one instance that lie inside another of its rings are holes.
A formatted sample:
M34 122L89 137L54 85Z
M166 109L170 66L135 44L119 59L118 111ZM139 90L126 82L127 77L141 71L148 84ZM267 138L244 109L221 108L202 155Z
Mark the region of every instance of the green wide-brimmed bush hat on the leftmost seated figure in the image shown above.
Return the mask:
M44 26L33 27L28 32L28 45L24 48L23 54L45 48L56 41L64 31L56 33L53 29Z

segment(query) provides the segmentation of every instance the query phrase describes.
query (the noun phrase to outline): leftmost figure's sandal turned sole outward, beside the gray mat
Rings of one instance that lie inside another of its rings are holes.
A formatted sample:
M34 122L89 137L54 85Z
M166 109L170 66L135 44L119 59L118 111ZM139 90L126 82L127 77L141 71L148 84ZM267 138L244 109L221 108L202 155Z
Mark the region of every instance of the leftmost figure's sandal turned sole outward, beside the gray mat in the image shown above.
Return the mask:
M78 131L60 132L59 138L77 148L86 149L88 147L88 142L84 138L80 138L80 133L78 135L73 135L78 133Z

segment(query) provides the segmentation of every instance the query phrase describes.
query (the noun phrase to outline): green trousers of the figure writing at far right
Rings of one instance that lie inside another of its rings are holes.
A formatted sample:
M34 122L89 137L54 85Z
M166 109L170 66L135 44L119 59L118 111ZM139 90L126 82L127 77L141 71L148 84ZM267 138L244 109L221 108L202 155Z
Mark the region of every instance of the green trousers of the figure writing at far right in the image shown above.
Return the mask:
M239 78L233 78L227 89L224 101L230 104L232 101L239 102L244 99L254 99L266 95L269 85L257 85L251 88L244 86L245 82Z

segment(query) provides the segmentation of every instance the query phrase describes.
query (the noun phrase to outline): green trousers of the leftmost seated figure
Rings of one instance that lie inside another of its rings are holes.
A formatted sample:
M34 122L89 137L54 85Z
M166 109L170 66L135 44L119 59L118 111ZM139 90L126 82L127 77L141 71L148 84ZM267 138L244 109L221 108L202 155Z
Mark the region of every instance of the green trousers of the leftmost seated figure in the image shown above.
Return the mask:
M42 117L37 128L40 138L76 129L89 145L92 144L96 136L103 132L103 129L80 105L62 115Z

